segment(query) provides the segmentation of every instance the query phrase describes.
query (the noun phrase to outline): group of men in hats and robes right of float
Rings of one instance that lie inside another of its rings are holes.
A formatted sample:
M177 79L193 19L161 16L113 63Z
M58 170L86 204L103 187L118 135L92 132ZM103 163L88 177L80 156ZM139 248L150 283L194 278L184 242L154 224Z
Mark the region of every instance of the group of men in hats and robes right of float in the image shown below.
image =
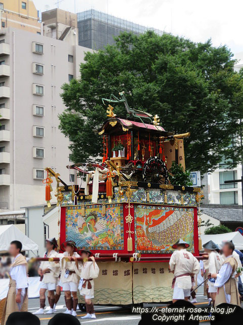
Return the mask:
M203 261L200 263L186 250L189 244L179 240L172 246L175 252L170 259L170 269L174 273L172 287L173 302L189 300L195 303L195 278L201 270L204 277L204 291L209 305L228 303L240 306L243 288L242 274L243 253L235 249L232 241L222 242L221 247L212 240L204 244Z

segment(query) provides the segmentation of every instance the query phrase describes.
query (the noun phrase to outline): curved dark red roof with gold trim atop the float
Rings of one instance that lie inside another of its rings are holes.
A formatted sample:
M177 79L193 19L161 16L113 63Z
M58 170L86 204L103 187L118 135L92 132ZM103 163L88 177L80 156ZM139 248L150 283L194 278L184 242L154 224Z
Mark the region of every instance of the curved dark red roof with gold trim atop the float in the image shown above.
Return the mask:
M109 118L104 121L101 128L98 130L99 134L114 134L123 133L126 131L135 131L142 128L143 132L155 133L159 136L171 136L174 132L165 131L164 127L160 125L146 124L142 122L132 121L124 118Z

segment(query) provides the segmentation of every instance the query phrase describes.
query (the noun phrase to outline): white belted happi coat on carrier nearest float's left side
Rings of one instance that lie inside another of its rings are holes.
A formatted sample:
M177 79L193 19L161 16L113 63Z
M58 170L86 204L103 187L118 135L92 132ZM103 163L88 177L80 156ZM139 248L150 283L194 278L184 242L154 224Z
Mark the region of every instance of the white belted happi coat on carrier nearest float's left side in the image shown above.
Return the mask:
M88 289L88 281L86 282L85 288L83 288L82 284L85 281L85 279L89 280L89 279L98 278L99 267L96 264L96 262L94 265L93 261L92 262L88 261L88 262L83 263L83 265L81 267L79 267L78 270L75 266L75 269L76 269L76 272L79 273L81 280L83 279L83 281L80 281L80 285L78 287L80 290L80 295L94 296L94 280L90 280L90 283L92 286L91 289Z

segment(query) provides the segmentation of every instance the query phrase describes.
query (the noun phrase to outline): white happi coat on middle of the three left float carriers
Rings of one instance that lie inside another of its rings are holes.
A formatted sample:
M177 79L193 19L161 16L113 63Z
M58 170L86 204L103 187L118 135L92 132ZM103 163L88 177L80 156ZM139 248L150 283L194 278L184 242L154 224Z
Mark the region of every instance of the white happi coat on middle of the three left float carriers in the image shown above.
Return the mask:
M58 255L60 257L60 264L61 264L61 282L62 283L66 283L66 282L74 282L74 283L78 283L79 282L79 275L78 272L76 272L76 268L75 268L75 262L66 262L65 261L65 257L68 256L67 252L64 252L62 254ZM73 252L73 256L74 257L80 257L80 255L78 255L78 253ZM67 278L65 278L65 272L66 270L69 271L75 271L75 273L69 274Z

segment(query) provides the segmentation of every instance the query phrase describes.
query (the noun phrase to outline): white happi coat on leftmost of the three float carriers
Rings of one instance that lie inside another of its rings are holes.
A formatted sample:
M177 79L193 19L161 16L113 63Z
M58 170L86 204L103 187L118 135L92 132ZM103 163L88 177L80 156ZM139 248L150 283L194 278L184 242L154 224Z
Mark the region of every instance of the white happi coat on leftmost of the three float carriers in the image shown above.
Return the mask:
M53 249L50 251L49 254L44 254L43 257L58 257L58 253ZM40 269L45 270L49 269L50 273L45 273L43 275L43 282L45 283L57 283L59 274L60 274L60 263L56 262L49 262L49 261L42 261L41 265L39 266Z

